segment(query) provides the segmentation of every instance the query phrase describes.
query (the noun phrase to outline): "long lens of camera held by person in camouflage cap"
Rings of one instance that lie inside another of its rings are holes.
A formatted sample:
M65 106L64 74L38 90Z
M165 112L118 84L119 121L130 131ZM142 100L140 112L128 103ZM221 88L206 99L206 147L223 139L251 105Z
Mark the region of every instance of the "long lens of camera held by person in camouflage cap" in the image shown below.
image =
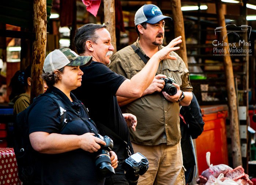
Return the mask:
M103 177L108 177L112 174L115 174L114 168L111 166L111 160L108 151L99 150L95 159L97 170Z

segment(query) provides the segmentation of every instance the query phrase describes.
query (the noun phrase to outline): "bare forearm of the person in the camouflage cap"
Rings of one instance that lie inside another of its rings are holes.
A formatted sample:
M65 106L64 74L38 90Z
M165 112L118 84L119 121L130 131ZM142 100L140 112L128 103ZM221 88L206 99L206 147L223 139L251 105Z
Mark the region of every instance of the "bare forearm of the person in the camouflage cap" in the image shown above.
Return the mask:
M33 132L29 138L33 149L44 154L59 154L80 148L78 135Z

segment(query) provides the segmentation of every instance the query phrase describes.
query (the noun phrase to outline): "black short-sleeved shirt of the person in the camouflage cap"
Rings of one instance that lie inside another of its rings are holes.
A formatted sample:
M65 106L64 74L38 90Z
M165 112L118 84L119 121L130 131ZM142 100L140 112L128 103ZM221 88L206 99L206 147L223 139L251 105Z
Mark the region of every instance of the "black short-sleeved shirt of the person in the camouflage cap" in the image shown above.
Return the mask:
M80 116L87 117L82 109L81 102L71 93L73 102L59 89L52 87L48 91L53 91L68 103ZM58 105L47 96L40 96L29 114L29 133L42 131L48 133L82 135L90 132L82 120L74 119L78 116L63 107L67 111L67 118L73 118L60 132L61 116ZM90 126L97 132L93 123ZM98 133L98 132L97 132ZM41 154L35 152L35 177L34 184L41 184L41 169L43 169L44 184L63 184L63 185L103 185L104 179L96 175L94 161L95 154L82 149L77 149L61 154Z

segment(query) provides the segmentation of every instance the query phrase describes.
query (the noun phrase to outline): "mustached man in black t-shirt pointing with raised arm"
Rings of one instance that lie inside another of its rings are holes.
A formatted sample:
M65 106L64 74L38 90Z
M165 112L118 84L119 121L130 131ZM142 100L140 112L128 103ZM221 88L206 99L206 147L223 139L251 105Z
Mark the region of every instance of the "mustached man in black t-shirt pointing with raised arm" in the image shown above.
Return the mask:
M151 56L146 66L129 80L112 72L106 66L110 63L109 58L113 54L114 47L105 25L86 24L76 30L76 51L79 55L92 56L93 62L90 66L81 68L84 73L82 86L74 93L88 107L99 133L113 139L113 151L117 154L119 164L128 157L125 144L125 142L130 143L127 124L135 130L137 120L134 115L122 114L116 96L137 99L147 88L155 88L151 82L155 77L159 62L166 58L176 59L169 53L179 49L174 46L180 42L180 40L173 40L168 46ZM163 85L159 88L163 88ZM133 151L131 144L129 147ZM128 185L121 165L115 169L115 172L114 176L106 178L105 184Z

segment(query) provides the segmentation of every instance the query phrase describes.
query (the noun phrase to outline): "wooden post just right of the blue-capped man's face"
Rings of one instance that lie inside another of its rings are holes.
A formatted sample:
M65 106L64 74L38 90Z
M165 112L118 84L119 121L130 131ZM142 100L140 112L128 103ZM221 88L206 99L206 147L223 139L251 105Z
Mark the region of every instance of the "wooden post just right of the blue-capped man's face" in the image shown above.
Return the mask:
M182 36L182 43L179 44L180 49L176 53L183 59L187 68L188 68L188 58L187 58L187 49L186 49L186 39L185 39L185 30L184 30L184 21L181 11L181 2L180 0L172 0L172 12L173 12L173 23L174 23L174 36Z

